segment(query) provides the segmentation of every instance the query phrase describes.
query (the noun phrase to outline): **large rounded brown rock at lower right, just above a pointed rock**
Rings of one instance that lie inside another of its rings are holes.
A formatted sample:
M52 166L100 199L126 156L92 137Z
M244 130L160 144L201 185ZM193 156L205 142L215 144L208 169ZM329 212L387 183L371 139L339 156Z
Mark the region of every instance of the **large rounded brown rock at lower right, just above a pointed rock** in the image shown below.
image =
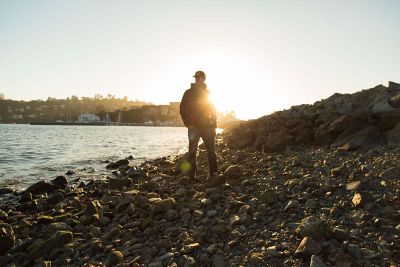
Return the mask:
M310 237L314 240L322 240L331 235L328 224L315 216L304 218L296 228L301 237Z

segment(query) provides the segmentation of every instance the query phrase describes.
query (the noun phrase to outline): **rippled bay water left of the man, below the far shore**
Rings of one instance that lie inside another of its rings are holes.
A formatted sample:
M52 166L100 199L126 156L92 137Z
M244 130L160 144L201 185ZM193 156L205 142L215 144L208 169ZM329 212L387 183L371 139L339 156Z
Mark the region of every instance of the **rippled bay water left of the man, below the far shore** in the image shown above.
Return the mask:
M0 187L21 190L39 179L74 170L74 177L105 177L102 161L148 159L185 152L182 127L42 126L0 124ZM97 178L98 178L97 177Z

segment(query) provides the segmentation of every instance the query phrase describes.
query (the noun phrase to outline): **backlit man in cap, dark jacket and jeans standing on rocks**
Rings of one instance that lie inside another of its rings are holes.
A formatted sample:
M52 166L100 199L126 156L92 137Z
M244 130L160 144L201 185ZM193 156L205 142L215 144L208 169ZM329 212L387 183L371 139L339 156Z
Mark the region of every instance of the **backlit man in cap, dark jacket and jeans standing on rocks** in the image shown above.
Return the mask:
M217 156L215 154L215 129L217 116L213 103L209 99L210 91L207 90L206 74L197 71L193 76L195 83L183 94L180 104L180 113L183 123L188 128L189 137L189 176L196 178L197 146L203 139L208 155L210 177L217 175Z

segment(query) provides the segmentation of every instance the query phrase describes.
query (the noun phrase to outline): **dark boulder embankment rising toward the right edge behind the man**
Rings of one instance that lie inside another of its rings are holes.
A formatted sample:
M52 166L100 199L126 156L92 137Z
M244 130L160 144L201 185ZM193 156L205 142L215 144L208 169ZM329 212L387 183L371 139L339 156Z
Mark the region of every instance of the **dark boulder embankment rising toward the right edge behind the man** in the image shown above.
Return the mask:
M400 146L400 84L389 82L354 94L334 94L241 123L226 133L232 147L284 151L294 145L352 150Z

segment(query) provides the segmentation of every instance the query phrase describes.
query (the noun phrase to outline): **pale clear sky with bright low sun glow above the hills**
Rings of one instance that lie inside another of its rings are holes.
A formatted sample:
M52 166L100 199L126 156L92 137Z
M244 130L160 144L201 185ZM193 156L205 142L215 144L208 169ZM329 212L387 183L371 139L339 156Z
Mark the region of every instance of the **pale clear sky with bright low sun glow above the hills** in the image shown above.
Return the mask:
M0 93L180 101L251 119L400 81L397 0L0 0Z

